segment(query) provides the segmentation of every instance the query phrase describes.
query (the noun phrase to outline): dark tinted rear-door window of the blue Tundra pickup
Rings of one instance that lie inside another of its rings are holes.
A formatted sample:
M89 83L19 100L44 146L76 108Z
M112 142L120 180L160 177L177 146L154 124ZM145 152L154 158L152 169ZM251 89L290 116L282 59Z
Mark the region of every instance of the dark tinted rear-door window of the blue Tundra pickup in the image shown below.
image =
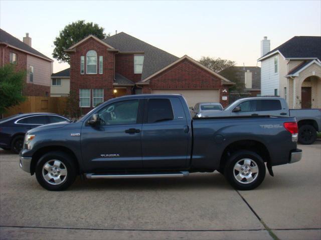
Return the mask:
M149 99L147 122L152 123L162 120L173 120L174 114L172 104L169 99Z

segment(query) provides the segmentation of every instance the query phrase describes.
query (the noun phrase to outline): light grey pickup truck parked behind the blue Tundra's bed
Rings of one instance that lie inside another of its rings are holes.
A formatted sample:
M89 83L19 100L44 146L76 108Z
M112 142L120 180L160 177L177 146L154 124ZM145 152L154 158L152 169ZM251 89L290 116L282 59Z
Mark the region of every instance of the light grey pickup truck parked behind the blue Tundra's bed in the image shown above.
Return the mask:
M316 139L316 132L321 131L321 109L289 109L285 99L281 97L242 98L223 111L208 110L200 112L197 117L247 115L296 117L299 127L298 141L302 144L312 144Z

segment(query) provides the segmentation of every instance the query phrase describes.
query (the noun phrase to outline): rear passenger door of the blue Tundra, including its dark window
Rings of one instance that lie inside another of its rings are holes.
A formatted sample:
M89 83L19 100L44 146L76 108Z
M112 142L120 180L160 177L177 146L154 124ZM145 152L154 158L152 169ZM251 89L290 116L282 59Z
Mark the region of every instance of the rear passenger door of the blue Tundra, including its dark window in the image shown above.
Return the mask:
M143 167L145 169L186 168L190 156L191 129L180 99L178 97L150 98L144 108Z

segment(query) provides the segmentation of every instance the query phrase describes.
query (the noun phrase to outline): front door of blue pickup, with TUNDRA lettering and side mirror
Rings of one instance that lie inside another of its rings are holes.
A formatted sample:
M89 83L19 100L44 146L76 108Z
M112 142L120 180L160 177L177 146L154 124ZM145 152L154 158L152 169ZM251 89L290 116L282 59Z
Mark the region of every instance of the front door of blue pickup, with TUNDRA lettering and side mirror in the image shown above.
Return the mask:
M84 123L81 149L86 172L142 168L142 103L138 99L110 103L97 112L99 125Z

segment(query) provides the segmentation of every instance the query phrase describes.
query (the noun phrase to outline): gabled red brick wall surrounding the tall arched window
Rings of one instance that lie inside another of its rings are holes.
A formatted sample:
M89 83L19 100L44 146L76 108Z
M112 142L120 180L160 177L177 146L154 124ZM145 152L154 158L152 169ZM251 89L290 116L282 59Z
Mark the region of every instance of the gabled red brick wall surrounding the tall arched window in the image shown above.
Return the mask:
M104 89L104 101L113 97L113 79L114 79L114 53L107 51L108 47L93 38L81 43L76 47L76 52L70 53L70 90L76 93L79 98L79 89ZM86 74L86 53L89 50L97 52L97 64L99 65L99 56L103 56L103 74ZM80 56L85 56L85 74L80 74ZM92 105L92 90L91 99ZM82 112L88 112L92 107L82 108Z

